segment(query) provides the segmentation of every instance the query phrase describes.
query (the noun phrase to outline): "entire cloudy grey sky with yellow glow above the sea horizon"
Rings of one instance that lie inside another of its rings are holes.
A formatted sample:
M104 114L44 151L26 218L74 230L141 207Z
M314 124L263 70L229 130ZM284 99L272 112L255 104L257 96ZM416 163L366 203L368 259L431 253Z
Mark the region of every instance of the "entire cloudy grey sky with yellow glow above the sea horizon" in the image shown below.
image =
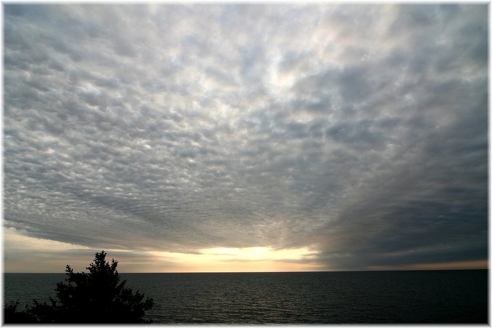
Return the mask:
M3 4L3 270L488 266L488 4Z

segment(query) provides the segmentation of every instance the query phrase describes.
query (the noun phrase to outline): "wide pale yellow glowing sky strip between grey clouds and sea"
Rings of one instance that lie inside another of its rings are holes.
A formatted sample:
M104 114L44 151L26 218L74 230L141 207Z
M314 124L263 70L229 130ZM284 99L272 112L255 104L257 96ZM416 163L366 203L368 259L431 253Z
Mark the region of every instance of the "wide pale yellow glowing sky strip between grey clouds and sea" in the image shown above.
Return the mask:
M84 270L101 249L29 237L15 228L2 230L4 272L63 272L69 264ZM212 247L197 251L169 252L105 247L108 258L118 260L119 272L247 272L317 271L317 251L308 247Z

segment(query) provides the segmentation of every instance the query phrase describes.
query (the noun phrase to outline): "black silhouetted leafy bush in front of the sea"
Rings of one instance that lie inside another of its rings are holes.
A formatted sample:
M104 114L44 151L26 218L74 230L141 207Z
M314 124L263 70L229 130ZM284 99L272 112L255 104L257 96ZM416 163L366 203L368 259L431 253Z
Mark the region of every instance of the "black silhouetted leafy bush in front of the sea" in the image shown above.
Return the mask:
M34 306L24 312L16 312L18 301L5 306L5 323L145 323L145 311L154 301L139 291L133 293L120 282L116 266L105 260L106 252L96 253L94 261L85 272L74 272L67 265L66 283L59 282L55 289L58 300L50 297L51 304L33 300Z

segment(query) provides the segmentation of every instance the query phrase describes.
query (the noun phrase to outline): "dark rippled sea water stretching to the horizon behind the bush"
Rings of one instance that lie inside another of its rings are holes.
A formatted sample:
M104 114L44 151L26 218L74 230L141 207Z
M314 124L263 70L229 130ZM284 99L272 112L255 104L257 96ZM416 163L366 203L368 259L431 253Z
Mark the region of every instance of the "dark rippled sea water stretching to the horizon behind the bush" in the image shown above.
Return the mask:
M170 324L487 323L488 271L121 273ZM48 301L65 274L5 273L4 302Z

